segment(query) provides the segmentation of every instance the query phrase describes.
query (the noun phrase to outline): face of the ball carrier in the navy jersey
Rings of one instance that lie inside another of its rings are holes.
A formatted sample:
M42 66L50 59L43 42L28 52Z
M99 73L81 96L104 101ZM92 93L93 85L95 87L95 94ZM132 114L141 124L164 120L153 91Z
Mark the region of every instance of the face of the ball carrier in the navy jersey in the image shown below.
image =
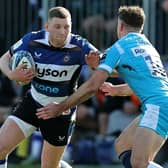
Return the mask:
M54 47L63 47L71 32L71 20L54 17L46 24L46 30L49 32L49 43Z

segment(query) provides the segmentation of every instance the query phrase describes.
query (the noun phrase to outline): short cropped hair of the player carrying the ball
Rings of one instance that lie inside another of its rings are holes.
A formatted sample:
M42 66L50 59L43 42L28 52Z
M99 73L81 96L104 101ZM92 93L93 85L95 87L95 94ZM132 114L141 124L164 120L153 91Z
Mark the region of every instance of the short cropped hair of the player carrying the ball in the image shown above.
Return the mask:
M70 18L71 19L71 14L68 9L62 7L62 6L57 6L53 7L48 11L48 19L52 19L53 17L57 18Z

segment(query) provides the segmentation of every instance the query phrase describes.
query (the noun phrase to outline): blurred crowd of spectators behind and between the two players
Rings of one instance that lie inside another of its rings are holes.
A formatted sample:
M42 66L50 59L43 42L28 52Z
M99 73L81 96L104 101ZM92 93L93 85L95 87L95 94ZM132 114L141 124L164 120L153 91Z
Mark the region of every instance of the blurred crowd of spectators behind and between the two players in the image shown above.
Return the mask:
M34 1L35 2L35 1ZM94 2L95 3L95 2ZM163 9L168 11L168 1L164 1ZM36 9L31 1L31 7ZM40 3L41 5L41 3ZM109 11L108 11L109 12ZM96 14L87 17L82 21L81 32L93 42L93 44L104 50L105 41L102 41L101 34L107 33L111 39L111 45L116 40L116 19L107 19L105 14ZM37 22L31 29L36 27ZM30 29L30 27L29 27ZM95 36L94 33L97 35ZM16 39L14 39L16 40ZM107 45L107 44L106 44ZM83 69L79 79L79 85L91 75L92 71ZM109 78L108 81L115 84L124 83L121 78ZM18 86L0 73L0 125L4 122L11 108L18 102L23 92L29 86ZM74 164L113 164L119 163L114 149L114 139L123 129L141 113L140 102L135 95L126 97L105 97L102 92L98 92L92 99L79 105L77 111L77 121L74 134L64 159L68 162L73 160ZM10 161L20 161L22 164L39 162L42 146L40 132L34 133L29 139L22 142L11 155ZM166 153L167 143L157 156L158 162L165 164L168 161Z

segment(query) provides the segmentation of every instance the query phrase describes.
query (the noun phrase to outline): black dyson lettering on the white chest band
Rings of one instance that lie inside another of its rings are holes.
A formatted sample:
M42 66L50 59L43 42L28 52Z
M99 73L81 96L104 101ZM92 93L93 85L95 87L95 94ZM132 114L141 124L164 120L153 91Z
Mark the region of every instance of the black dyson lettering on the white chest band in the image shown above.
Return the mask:
M36 64L36 73L38 77L52 76L52 77L65 77L68 75L67 70L54 70L51 68L39 68Z

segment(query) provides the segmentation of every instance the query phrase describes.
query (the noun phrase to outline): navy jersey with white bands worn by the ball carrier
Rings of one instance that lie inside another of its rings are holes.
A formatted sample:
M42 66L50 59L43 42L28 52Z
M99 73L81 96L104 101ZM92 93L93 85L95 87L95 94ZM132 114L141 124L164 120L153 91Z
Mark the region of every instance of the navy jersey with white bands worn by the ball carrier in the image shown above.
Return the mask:
M31 83L31 94L40 104L63 101L76 88L85 54L97 49L79 35L70 34L63 48L48 43L45 30L26 34L14 44L11 55L18 50L29 51L35 61L37 76Z

